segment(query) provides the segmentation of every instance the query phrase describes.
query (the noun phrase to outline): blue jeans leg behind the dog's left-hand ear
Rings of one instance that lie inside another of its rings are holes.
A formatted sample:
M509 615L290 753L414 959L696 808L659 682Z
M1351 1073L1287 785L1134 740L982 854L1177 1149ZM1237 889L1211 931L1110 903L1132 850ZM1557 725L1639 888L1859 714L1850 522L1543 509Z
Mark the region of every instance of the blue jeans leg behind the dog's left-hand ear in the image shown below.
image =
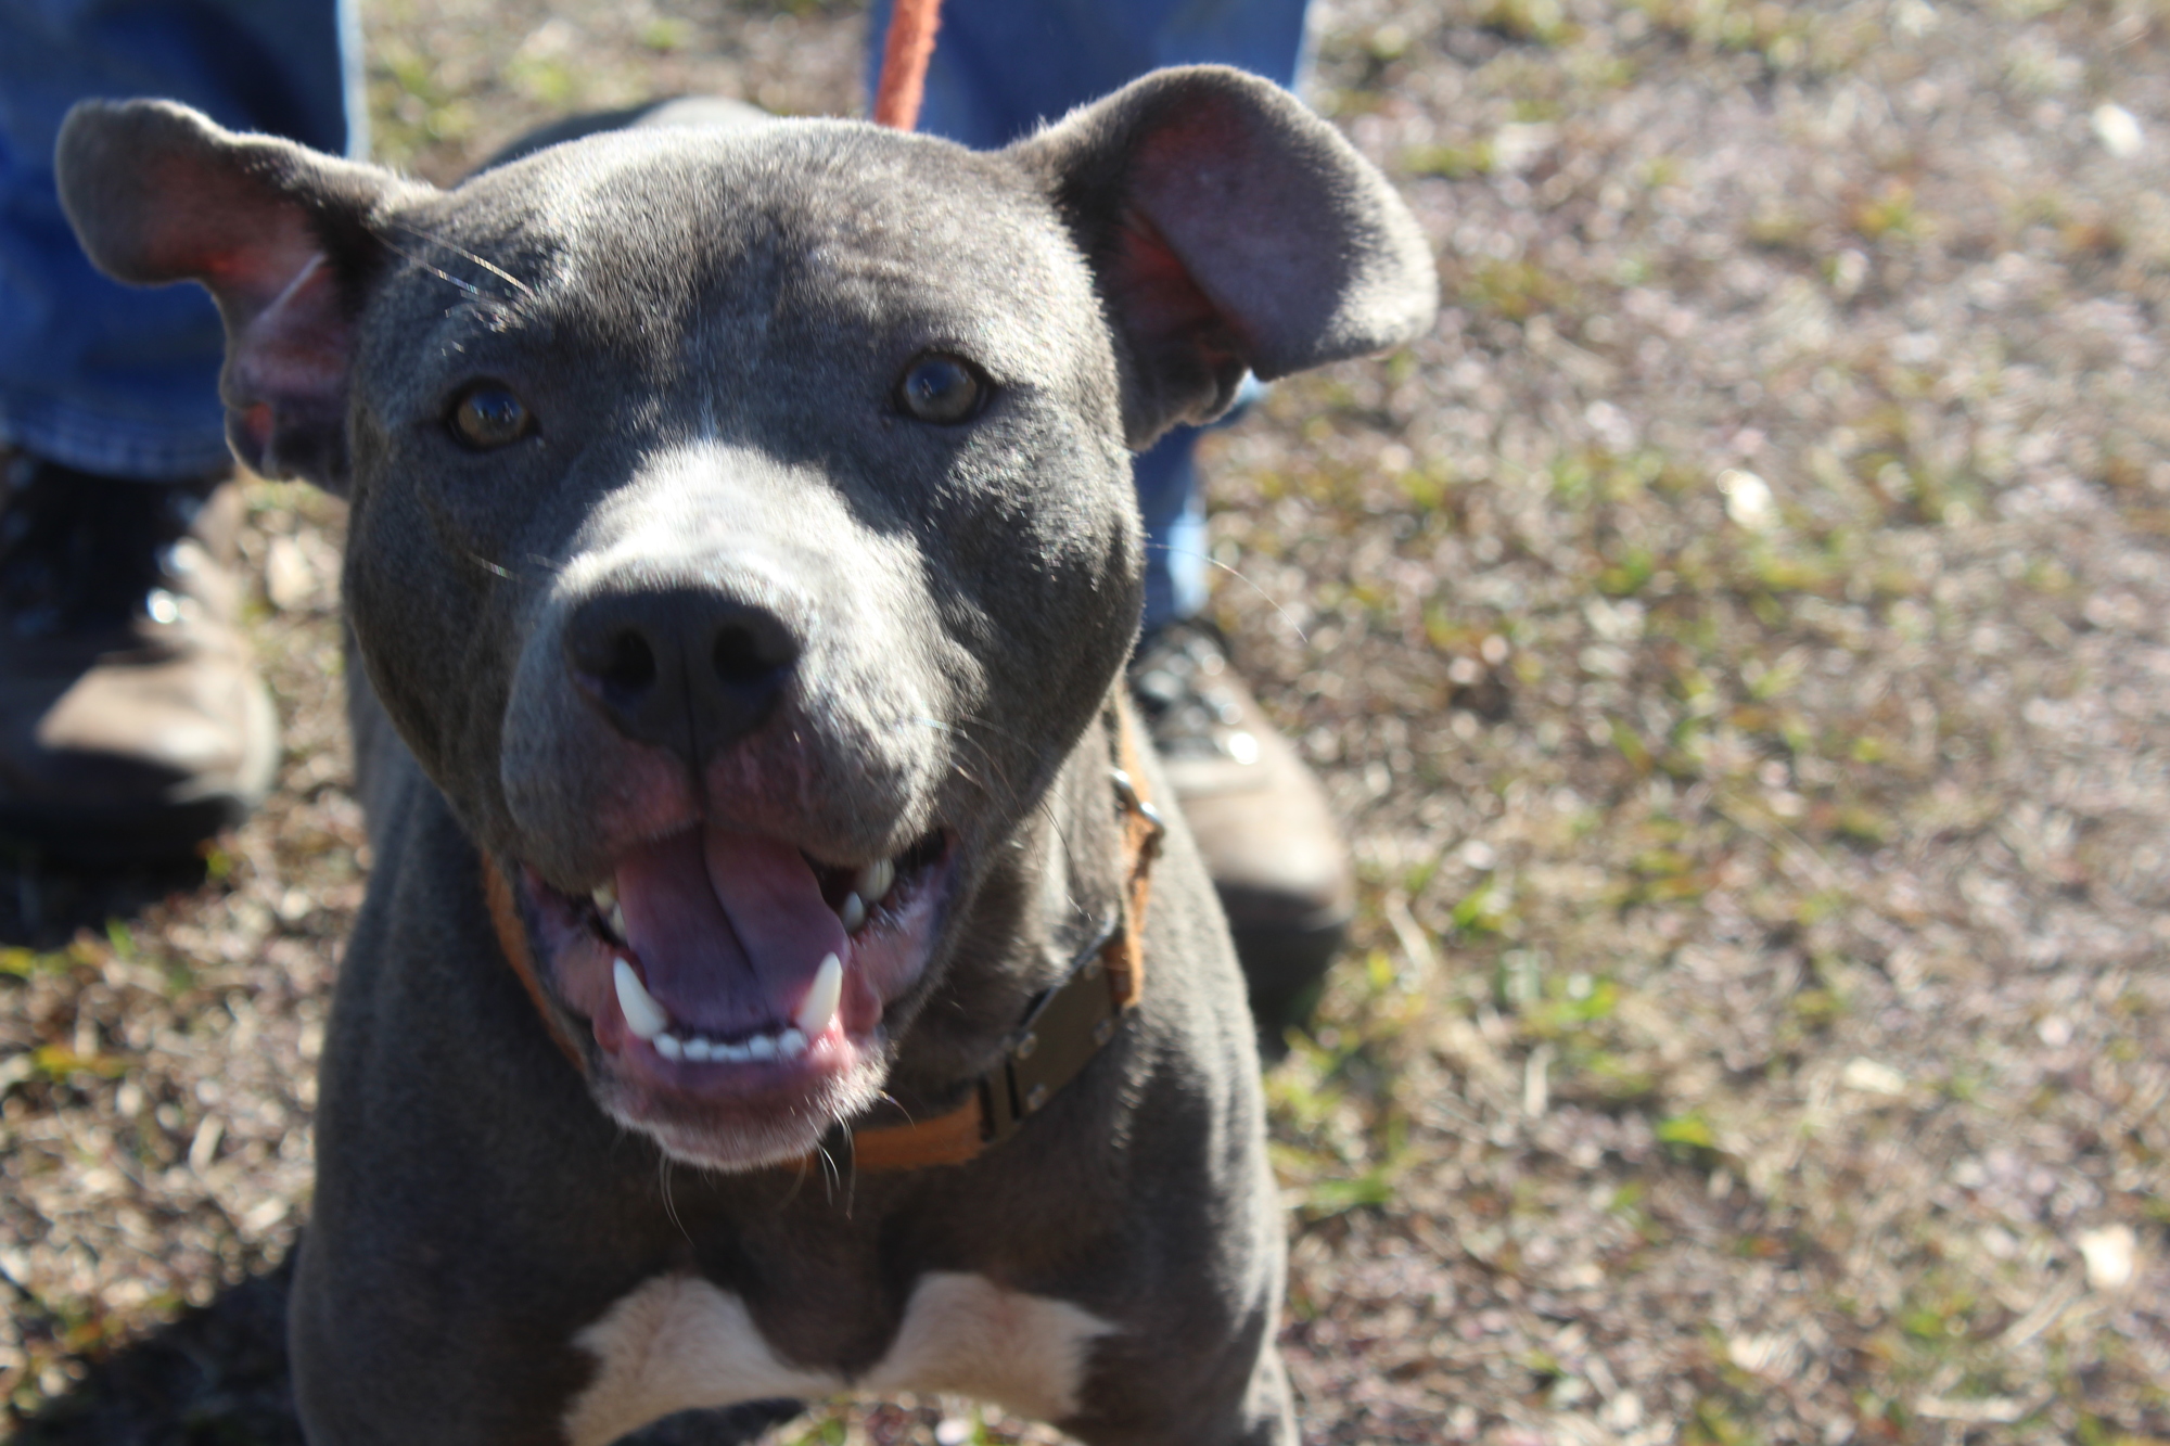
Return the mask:
M230 462L210 297L93 271L52 189L52 143L78 100L169 96L237 130L358 152L354 26L345 0L0 0L0 441L152 482Z

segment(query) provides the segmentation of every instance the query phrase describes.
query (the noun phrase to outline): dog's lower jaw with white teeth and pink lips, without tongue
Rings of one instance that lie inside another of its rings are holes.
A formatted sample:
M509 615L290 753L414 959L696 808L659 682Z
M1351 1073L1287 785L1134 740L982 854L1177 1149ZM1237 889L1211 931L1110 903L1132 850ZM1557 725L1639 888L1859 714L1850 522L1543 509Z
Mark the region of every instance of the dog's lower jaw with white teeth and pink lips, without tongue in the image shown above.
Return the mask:
M950 836L935 832L894 862L816 866L833 927L803 929L809 942L801 951L825 949L820 962L768 971L781 973L773 990L755 1003L733 1001L731 1020L716 1018L714 994L723 990L701 999L694 986L688 994L684 960L675 962L675 994L662 986L662 999L649 992L647 962L627 942L644 931L625 923L612 888L575 899L525 871L521 892L540 984L584 1036L577 1044L597 1103L675 1159L753 1170L812 1155L833 1125L879 1099L892 1044L888 1012L927 975L953 858ZM868 903L861 892L875 886ZM746 934L746 921L723 931ZM651 940L653 929L647 934ZM738 984L744 992L746 981ZM710 1018L692 1018L703 1007Z

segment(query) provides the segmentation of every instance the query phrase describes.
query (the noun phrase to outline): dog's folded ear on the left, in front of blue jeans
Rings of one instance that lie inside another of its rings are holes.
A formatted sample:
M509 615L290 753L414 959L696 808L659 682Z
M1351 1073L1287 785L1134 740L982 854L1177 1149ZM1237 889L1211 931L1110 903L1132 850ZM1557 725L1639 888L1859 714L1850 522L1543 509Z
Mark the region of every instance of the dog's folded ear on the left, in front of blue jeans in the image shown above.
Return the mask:
M54 154L61 204L115 280L202 282L226 319L226 436L267 478L347 482L347 363L382 245L371 215L421 189L234 135L165 100L87 100Z

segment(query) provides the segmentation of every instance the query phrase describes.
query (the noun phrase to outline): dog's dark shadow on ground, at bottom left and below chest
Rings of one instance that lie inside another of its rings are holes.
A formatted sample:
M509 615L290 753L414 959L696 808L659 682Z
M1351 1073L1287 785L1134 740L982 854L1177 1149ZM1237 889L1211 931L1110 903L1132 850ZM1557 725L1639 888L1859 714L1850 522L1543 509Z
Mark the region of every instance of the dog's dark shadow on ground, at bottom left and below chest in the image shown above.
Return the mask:
M72 1392L20 1418L7 1446L302 1446L286 1379L291 1279L289 1255L95 1359ZM792 1400L681 1411L621 1446L740 1446L796 1413Z

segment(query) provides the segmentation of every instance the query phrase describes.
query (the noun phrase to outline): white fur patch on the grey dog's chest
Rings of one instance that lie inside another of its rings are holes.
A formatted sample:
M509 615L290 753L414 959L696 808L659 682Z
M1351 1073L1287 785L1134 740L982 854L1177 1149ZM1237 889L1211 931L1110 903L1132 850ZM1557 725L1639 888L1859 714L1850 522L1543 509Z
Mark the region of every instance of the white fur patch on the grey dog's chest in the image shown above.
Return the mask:
M608 1446L673 1411L846 1390L955 1392L1059 1420L1076 1411L1092 1344L1113 1329L1068 1301L979 1274L922 1274L890 1350L851 1379L779 1357L736 1294L666 1274L573 1337L599 1370L566 1411L564 1433L573 1446Z

